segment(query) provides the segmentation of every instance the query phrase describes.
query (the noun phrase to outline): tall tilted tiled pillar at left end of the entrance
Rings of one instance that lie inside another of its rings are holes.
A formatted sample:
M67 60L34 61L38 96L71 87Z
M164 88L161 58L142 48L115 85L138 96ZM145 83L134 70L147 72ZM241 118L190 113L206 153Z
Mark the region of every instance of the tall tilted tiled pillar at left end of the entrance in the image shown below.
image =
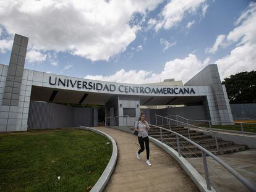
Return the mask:
M20 123L17 119L19 112L20 87L22 85L23 69L27 53L28 38L25 36L14 36L11 59L9 67L1 72L2 105L0 111L0 131L20 131ZM6 73L7 72L7 73ZM22 111L23 113L23 111ZM19 126L17 126L17 123Z

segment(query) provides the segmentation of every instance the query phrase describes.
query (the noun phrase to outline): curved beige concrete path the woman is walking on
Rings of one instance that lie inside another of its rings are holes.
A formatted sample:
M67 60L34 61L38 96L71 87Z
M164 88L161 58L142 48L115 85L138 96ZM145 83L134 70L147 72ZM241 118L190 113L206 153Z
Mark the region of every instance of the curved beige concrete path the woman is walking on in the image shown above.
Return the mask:
M118 158L104 191L198 191L186 172L168 153L150 142L151 167L146 152L139 160L137 136L106 127L93 127L111 135L117 143Z

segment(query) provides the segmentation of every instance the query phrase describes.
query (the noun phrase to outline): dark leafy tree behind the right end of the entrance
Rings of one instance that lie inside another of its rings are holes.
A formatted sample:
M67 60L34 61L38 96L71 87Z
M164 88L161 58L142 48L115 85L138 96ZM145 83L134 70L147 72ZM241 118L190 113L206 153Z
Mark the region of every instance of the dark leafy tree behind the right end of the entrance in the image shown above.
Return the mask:
M256 102L256 71L236 73L224 78L230 103Z

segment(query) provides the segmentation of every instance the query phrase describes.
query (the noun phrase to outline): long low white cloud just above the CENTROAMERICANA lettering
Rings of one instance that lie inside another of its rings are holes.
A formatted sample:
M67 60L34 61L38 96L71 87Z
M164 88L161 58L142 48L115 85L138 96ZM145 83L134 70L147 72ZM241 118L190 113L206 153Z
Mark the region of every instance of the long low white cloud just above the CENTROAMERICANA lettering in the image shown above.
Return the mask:
M84 78L135 84L159 82L160 77L162 81L167 78L187 81L205 66L206 64L198 60L194 54L189 54L184 59L174 59L173 61L166 62L164 70L161 73L152 73L146 70L126 71L121 69L109 76L87 75Z

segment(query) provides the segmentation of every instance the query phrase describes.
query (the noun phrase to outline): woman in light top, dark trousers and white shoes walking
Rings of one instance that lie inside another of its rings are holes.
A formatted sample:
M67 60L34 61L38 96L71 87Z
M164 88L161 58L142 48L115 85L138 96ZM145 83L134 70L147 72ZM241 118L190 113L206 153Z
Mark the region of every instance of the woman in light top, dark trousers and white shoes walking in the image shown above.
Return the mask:
M138 140L140 144L140 150L136 152L137 158L140 159L140 153L144 151L144 143L146 146L146 152L147 152L147 161L146 164L148 166L151 166L151 163L149 161L149 154L150 154L150 149L149 149L149 140L148 140L148 130L150 127L148 126L148 122L146 121L146 115L145 114L140 114L140 118L135 122L135 130L139 131L138 133Z

